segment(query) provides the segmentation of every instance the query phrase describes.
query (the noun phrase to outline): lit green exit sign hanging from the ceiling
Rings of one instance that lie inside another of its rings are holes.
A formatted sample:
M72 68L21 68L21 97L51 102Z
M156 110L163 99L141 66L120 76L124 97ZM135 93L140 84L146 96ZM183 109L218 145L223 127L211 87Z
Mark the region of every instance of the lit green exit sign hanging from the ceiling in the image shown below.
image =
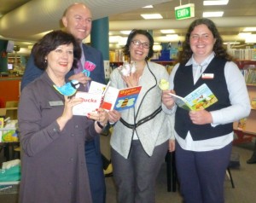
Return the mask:
M195 4L189 3L183 6L175 7L176 20L183 20L195 17Z

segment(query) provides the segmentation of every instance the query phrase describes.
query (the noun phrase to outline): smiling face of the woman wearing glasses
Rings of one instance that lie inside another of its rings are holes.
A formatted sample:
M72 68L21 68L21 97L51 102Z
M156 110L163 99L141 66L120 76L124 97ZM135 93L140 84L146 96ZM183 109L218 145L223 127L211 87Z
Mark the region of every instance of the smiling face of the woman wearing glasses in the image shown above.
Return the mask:
M137 34L132 38L130 44L131 61L145 61L148 55L148 38L143 34Z

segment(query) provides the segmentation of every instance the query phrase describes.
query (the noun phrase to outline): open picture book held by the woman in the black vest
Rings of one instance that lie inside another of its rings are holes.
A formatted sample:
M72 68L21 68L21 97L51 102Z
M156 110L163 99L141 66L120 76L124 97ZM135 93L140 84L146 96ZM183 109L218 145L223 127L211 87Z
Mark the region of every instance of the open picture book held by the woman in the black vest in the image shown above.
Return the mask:
M207 84L202 84L185 97L177 96L172 93L169 94L173 96L178 107L182 107L188 111L205 109L218 101L217 97L213 95L212 90L210 90Z

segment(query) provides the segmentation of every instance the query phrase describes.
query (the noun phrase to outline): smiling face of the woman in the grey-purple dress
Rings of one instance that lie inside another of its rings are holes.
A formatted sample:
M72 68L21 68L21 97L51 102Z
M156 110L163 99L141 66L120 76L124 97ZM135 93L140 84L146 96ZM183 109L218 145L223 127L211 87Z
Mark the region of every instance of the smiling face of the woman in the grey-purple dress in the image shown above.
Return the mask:
M46 55L45 60L48 61L48 73L64 78L73 65L73 44L58 46Z

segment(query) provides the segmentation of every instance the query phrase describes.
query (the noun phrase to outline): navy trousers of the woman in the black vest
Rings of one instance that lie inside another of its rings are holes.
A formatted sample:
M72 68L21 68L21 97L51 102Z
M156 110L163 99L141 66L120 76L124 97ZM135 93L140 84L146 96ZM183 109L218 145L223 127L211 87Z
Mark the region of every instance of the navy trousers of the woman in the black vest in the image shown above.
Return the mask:
M176 142L177 178L185 203L224 203L224 178L232 145L207 152L184 150Z

